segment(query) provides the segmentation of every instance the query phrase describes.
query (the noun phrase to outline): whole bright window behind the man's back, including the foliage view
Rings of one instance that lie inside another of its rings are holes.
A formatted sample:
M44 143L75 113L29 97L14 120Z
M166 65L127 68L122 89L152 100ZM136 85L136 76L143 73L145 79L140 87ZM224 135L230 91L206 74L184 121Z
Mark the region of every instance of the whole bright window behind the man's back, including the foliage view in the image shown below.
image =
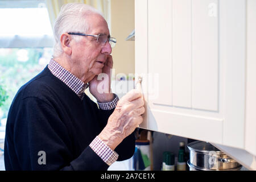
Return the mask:
M1 155L11 102L20 86L48 64L53 34L44 1L0 1L0 17L5 17L0 19ZM1 105L3 95L8 98Z

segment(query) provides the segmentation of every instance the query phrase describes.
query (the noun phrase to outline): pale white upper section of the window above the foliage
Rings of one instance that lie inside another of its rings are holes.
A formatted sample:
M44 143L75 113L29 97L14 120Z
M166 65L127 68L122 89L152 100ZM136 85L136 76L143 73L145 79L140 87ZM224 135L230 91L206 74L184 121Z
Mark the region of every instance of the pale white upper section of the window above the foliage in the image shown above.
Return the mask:
M0 17L5 17L0 19L1 48L53 46L44 1L0 1Z

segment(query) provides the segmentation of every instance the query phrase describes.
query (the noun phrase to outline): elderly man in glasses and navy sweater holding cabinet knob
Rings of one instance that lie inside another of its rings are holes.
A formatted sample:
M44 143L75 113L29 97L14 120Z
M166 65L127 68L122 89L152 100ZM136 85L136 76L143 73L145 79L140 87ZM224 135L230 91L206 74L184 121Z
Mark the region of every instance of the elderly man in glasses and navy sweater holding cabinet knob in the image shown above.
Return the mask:
M69 3L54 35L53 59L19 89L10 107L6 170L106 170L131 158L144 102L135 89L119 101L110 92L115 39L106 20L88 5ZM98 80L100 73L109 79ZM108 92L99 89L102 82ZM84 94L88 86L98 106Z

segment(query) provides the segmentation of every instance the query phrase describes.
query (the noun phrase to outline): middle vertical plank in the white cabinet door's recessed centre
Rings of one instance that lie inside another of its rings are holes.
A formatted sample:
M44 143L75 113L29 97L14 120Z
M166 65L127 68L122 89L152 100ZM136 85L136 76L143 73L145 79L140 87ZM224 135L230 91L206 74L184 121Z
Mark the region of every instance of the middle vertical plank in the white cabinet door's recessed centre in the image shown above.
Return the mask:
M192 107L191 0L172 1L172 100Z

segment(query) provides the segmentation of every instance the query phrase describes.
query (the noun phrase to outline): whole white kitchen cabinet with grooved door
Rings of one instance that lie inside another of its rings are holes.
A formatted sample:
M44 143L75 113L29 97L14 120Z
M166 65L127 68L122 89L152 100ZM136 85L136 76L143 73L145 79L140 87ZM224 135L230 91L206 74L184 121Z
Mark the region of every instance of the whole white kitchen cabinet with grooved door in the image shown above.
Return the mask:
M135 0L140 127L256 155L255 2Z

